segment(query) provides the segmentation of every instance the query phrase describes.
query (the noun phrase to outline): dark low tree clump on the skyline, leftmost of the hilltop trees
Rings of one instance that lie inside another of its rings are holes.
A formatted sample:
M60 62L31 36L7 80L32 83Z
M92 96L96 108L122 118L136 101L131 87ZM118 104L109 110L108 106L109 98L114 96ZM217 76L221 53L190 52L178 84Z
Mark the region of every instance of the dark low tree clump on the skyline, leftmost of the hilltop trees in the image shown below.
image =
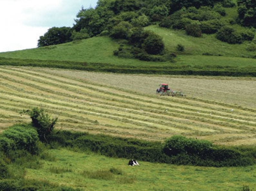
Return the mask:
M43 36L40 36L37 46L42 47L70 42L70 37L70 27L52 27Z

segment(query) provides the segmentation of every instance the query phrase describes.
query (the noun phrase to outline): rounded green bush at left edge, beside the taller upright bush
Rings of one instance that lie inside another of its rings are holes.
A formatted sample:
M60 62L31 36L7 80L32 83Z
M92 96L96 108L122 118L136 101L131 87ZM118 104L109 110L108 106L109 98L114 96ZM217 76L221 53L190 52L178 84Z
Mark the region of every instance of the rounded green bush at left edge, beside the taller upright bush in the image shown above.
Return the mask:
M38 134L30 125L14 125L0 135L0 146L3 151L23 149L32 154L38 152Z

